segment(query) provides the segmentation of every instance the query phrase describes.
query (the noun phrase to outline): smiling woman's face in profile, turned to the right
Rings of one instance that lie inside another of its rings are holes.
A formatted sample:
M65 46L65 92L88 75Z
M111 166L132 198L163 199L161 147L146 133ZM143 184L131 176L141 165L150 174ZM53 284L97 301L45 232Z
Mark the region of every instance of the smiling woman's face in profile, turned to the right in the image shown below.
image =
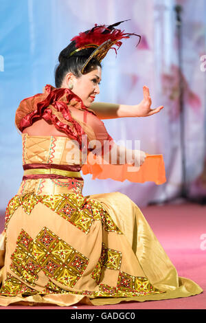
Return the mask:
M85 107L90 107L91 103L95 100L95 96L100 93L100 80L102 79L102 69L97 66L93 71L87 74L82 74L80 78L76 78L71 73L66 76L66 84L69 87L69 82L73 85L73 93L75 93Z

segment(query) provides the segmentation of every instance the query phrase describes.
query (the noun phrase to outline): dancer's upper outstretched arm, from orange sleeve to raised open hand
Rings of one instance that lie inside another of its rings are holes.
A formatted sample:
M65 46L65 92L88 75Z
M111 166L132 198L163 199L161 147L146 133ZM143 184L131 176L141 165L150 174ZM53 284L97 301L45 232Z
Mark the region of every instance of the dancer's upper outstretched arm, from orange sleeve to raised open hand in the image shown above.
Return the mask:
M128 117L149 117L163 109L161 105L157 109L150 109L152 99L148 87L143 87L144 98L139 104L113 104L105 102L93 102L92 109L100 119L128 118Z

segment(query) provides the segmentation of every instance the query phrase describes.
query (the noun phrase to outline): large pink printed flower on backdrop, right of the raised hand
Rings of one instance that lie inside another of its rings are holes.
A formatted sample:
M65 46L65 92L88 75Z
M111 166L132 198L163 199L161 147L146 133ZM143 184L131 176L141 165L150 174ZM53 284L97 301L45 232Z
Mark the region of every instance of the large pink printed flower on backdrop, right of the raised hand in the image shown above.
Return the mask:
M190 86L185 79L185 76L179 71L179 67L171 65L170 74L162 74L161 81L163 84L163 94L166 98L165 104L168 104L170 110L168 110L170 120L174 121L179 118L180 107L180 87L179 87L179 75L183 80L183 96L186 107L191 107L195 113L200 113L201 99L199 96L190 89Z

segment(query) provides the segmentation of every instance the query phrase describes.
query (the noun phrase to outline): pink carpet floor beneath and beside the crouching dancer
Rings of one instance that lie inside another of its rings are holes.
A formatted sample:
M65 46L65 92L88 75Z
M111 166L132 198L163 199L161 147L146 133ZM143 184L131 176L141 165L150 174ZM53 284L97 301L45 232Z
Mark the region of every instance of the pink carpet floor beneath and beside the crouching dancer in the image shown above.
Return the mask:
M198 296L146 302L122 302L91 307L10 306L0 309L206 309L206 206L196 203L150 205L141 208L146 220L175 265L179 276L194 280L203 289ZM4 218L0 216L0 231Z

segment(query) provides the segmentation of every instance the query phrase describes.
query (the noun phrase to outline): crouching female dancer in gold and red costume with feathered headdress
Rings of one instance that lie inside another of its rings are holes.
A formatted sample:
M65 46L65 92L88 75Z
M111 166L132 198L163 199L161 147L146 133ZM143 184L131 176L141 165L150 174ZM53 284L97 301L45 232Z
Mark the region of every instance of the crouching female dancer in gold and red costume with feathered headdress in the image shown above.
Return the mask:
M82 195L80 170L98 178L132 176L142 182L153 176L157 183L164 181L163 172L149 174L158 162L163 170L161 160L155 158L154 164L143 151L137 156L117 146L100 120L159 112L162 107L150 109L148 89L131 109L93 103L100 93L101 60L131 35L117 25L95 25L73 38L60 53L56 88L46 85L16 111L24 174L8 203L1 234L1 306L142 302L203 291L178 276L144 215L125 194ZM128 153L130 159L122 164ZM108 163L99 162L104 160Z

